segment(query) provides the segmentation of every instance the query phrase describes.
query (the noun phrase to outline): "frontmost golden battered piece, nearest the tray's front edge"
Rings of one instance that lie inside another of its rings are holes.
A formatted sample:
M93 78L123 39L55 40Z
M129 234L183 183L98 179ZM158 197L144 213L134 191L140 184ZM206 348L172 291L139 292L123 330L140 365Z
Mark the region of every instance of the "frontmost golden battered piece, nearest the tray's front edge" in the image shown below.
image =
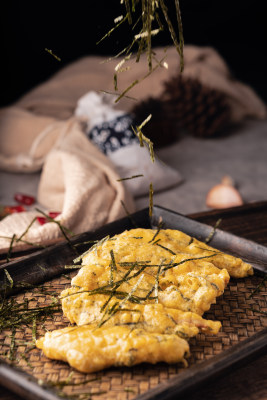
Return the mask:
M142 329L113 326L92 330L88 326L47 332L36 346L55 360L68 362L81 372L141 362L169 364L184 360L189 345L179 336L149 333Z

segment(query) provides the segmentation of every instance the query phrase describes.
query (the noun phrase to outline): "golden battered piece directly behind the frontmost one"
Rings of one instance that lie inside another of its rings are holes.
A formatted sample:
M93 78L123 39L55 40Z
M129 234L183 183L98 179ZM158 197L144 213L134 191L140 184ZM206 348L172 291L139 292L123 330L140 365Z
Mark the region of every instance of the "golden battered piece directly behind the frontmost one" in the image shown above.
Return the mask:
M77 288L69 288L61 293L64 315L71 323L79 326L99 324L107 326L129 325L147 332L177 334L182 338L196 336L199 331L217 334L221 328L219 321L205 320L198 314L167 308L162 304L133 304L127 302L111 317L101 311L107 301L105 295L81 293ZM109 310L117 303L113 298Z

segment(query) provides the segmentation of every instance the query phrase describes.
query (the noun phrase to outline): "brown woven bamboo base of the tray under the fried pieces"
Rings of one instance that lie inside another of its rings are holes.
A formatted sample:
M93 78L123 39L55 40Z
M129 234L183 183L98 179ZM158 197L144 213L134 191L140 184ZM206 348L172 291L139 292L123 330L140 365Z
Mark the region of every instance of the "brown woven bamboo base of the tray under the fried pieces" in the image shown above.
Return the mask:
M29 308L51 304L53 296L70 286L70 276L46 282L39 288L14 297L16 302L29 300ZM222 331L217 336L199 334L190 340L190 365L199 363L218 354L241 340L253 335L267 326L267 282L261 277L231 279L223 296L217 298L205 318L222 322ZM46 330L68 326L68 321L61 312L57 312L37 322L36 335L40 337ZM67 364L52 361L42 355L33 346L32 323L0 335L0 356L13 365L26 371L41 383L68 381L64 387L56 387L59 394L63 391L68 396L79 399L131 400L167 381L183 370L182 365L142 364L132 368L111 368L99 373L82 374ZM9 360L9 359L12 360ZM88 382L88 380L91 382ZM82 384L82 382L87 382ZM53 384L52 384L53 386ZM54 386L53 386L54 387ZM55 387L54 387L55 388ZM82 394L80 397L76 395ZM96 397L97 396L97 397Z

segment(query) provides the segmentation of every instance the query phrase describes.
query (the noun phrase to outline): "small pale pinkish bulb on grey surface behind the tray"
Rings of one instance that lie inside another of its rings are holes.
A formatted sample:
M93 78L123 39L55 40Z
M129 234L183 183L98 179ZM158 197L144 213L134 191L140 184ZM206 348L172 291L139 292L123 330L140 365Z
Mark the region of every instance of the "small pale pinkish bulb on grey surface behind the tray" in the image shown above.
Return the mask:
M215 185L206 197L206 205L210 208L230 208L242 204L240 193L229 176L225 176L220 184Z

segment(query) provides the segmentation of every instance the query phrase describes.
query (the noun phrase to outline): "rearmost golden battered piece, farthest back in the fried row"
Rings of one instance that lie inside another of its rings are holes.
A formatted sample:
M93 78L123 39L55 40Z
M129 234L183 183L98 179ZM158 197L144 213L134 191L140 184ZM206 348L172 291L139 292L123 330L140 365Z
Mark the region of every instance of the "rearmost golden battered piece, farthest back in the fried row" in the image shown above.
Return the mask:
M134 262L149 260L150 264L180 262L186 258L205 257L217 268L225 268L236 278L252 275L250 264L240 258L222 253L206 243L173 229L161 229L158 233L152 229L132 229L115 235L112 240L89 251L82 259L82 265L105 266L110 260L110 250L116 253L116 261ZM196 260L197 261L197 260Z

